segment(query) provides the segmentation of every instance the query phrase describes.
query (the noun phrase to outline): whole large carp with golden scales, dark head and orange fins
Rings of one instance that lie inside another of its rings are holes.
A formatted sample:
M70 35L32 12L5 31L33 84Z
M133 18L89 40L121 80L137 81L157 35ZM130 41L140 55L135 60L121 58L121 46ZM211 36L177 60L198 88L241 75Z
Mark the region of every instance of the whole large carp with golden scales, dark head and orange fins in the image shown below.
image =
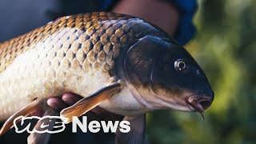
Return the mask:
M8 118L0 134L66 92L84 97L62 110L66 122L95 106L124 115L131 131L118 132L118 143L143 142L148 111L202 114L214 99L198 63L163 30L105 12L58 18L0 44L0 120Z

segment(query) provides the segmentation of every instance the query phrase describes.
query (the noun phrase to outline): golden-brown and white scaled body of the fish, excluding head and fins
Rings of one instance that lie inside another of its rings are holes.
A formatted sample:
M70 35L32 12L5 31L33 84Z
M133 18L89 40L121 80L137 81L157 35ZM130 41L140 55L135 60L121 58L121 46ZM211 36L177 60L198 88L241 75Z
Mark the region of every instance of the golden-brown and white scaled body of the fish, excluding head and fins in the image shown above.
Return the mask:
M0 44L0 120L35 98L84 97L112 76L122 51L146 34L165 36L139 18L91 13L58 18Z

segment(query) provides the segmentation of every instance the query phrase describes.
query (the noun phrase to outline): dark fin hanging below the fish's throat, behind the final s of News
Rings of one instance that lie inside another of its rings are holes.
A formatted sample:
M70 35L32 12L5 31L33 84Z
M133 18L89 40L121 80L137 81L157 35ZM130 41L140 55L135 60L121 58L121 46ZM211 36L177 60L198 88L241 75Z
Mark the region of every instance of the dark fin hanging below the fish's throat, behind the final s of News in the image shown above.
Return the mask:
M146 114L130 118L126 116L123 120L130 122L130 131L122 133L119 129L116 134L116 144L142 144L145 143Z

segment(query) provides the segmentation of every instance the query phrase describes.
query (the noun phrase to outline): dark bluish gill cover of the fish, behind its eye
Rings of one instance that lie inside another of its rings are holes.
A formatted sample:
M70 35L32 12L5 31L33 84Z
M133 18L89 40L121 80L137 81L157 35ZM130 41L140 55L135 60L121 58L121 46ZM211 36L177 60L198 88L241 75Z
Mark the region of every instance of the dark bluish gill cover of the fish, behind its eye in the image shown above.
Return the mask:
M123 63L130 82L135 85L138 82L142 85L150 83L153 80L151 76L155 62L166 53L166 48L169 46L170 43L151 35L139 38L138 42L130 46Z

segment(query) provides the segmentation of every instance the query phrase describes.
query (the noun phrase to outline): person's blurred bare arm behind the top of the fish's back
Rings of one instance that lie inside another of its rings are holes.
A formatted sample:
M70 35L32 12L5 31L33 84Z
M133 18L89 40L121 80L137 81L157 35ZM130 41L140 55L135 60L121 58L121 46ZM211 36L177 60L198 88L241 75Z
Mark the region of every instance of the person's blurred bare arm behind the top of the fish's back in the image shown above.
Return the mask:
M143 18L173 35L178 27L178 10L165 0L122 0L111 10Z

